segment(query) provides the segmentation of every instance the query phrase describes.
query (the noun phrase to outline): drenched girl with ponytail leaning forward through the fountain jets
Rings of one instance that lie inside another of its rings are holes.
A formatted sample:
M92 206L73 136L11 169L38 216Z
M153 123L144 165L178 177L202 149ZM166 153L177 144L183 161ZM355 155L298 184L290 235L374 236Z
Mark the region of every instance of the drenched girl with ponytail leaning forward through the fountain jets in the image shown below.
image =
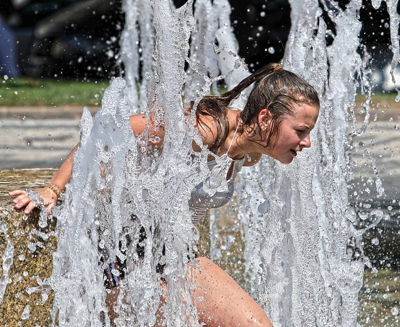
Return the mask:
M253 83L243 110L229 108L229 103ZM298 151L309 147L309 133L318 111L319 99L314 88L277 63L257 70L222 95L202 98L195 111L194 128L203 144L222 161L217 162L209 156L210 175L192 190L189 206L193 223L197 223L208 208L228 202L233 193L234 178L243 165L254 165L262 154L287 164ZM130 124L134 134L139 135L145 130L147 120L136 114L130 116ZM162 132L159 136L162 141ZM59 193L70 180L73 154L78 146L71 151L51 181L36 190L48 211L56 204ZM194 142L193 150L200 150ZM226 187L215 191L222 183ZM214 191L207 192L207 189ZM15 208L25 213L35 206L24 190L14 190L9 195L16 196L12 200ZM202 269L193 269L192 273L196 284L201 284L202 288L195 287L193 303L196 304L200 322L210 327L272 326L262 308L227 273L205 257L197 260ZM108 270L108 284L117 285L118 278L112 275L111 269ZM110 292L107 301L112 303L116 295L117 291ZM200 296L201 300L198 300ZM113 320L112 305L109 307L108 313Z

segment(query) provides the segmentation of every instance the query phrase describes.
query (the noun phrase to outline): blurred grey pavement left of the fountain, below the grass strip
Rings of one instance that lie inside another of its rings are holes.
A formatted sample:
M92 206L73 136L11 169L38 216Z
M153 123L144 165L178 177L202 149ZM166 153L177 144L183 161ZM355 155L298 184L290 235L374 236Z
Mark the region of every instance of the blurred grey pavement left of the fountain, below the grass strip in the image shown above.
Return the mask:
M59 167L79 141L82 109L0 107L0 169Z

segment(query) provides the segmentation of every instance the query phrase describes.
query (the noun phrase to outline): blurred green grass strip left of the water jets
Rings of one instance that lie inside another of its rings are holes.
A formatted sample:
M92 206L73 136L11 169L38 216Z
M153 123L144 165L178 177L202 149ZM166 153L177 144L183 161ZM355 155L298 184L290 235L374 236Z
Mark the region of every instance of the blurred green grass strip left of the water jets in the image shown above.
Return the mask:
M0 106L100 105L108 81L9 78L0 81Z

